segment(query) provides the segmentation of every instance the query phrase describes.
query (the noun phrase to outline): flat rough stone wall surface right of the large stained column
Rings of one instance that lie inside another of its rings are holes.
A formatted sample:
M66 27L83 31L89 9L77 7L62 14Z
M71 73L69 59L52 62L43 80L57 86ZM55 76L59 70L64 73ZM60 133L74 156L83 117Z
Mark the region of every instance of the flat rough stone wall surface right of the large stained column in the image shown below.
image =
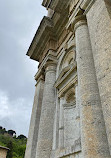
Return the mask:
M107 2L107 3L105 3ZM94 63L111 152L111 2L97 0L87 13ZM109 12L110 11L110 12Z

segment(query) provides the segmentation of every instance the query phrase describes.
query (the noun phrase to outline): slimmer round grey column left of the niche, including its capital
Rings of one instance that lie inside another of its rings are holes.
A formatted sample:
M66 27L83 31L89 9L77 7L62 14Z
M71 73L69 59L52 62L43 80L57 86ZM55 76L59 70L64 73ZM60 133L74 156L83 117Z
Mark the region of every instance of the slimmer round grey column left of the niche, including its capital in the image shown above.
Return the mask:
M53 142L56 64L47 63L36 158L49 158Z

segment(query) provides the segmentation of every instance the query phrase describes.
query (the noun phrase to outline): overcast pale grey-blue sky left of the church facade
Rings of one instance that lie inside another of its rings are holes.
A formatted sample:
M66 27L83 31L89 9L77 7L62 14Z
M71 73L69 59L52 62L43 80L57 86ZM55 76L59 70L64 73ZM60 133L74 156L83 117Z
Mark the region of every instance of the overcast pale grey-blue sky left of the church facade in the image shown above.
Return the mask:
M26 56L46 9L42 0L0 1L0 125L27 136L37 62Z

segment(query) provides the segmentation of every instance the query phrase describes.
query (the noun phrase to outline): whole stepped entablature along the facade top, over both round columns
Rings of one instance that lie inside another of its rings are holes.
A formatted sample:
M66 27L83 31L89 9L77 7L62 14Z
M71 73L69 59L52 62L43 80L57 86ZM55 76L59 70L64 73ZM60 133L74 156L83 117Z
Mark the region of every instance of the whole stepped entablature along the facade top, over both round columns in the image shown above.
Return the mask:
M54 10L54 13L52 17L45 16L42 19L27 55L41 63L48 49L56 51L60 47L63 42L62 36L68 35L67 30L73 27L75 17L85 14L93 3L94 0L44 0L43 6ZM54 47L50 45L50 40L55 42Z

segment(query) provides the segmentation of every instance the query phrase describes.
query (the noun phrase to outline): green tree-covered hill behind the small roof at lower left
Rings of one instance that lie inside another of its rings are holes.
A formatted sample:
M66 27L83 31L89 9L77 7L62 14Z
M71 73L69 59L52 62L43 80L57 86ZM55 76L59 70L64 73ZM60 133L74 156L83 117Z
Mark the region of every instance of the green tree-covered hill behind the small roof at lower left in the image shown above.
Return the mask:
M0 126L0 145L8 147L10 150L7 158L24 158L27 137L23 134L16 136L16 131L6 130Z

